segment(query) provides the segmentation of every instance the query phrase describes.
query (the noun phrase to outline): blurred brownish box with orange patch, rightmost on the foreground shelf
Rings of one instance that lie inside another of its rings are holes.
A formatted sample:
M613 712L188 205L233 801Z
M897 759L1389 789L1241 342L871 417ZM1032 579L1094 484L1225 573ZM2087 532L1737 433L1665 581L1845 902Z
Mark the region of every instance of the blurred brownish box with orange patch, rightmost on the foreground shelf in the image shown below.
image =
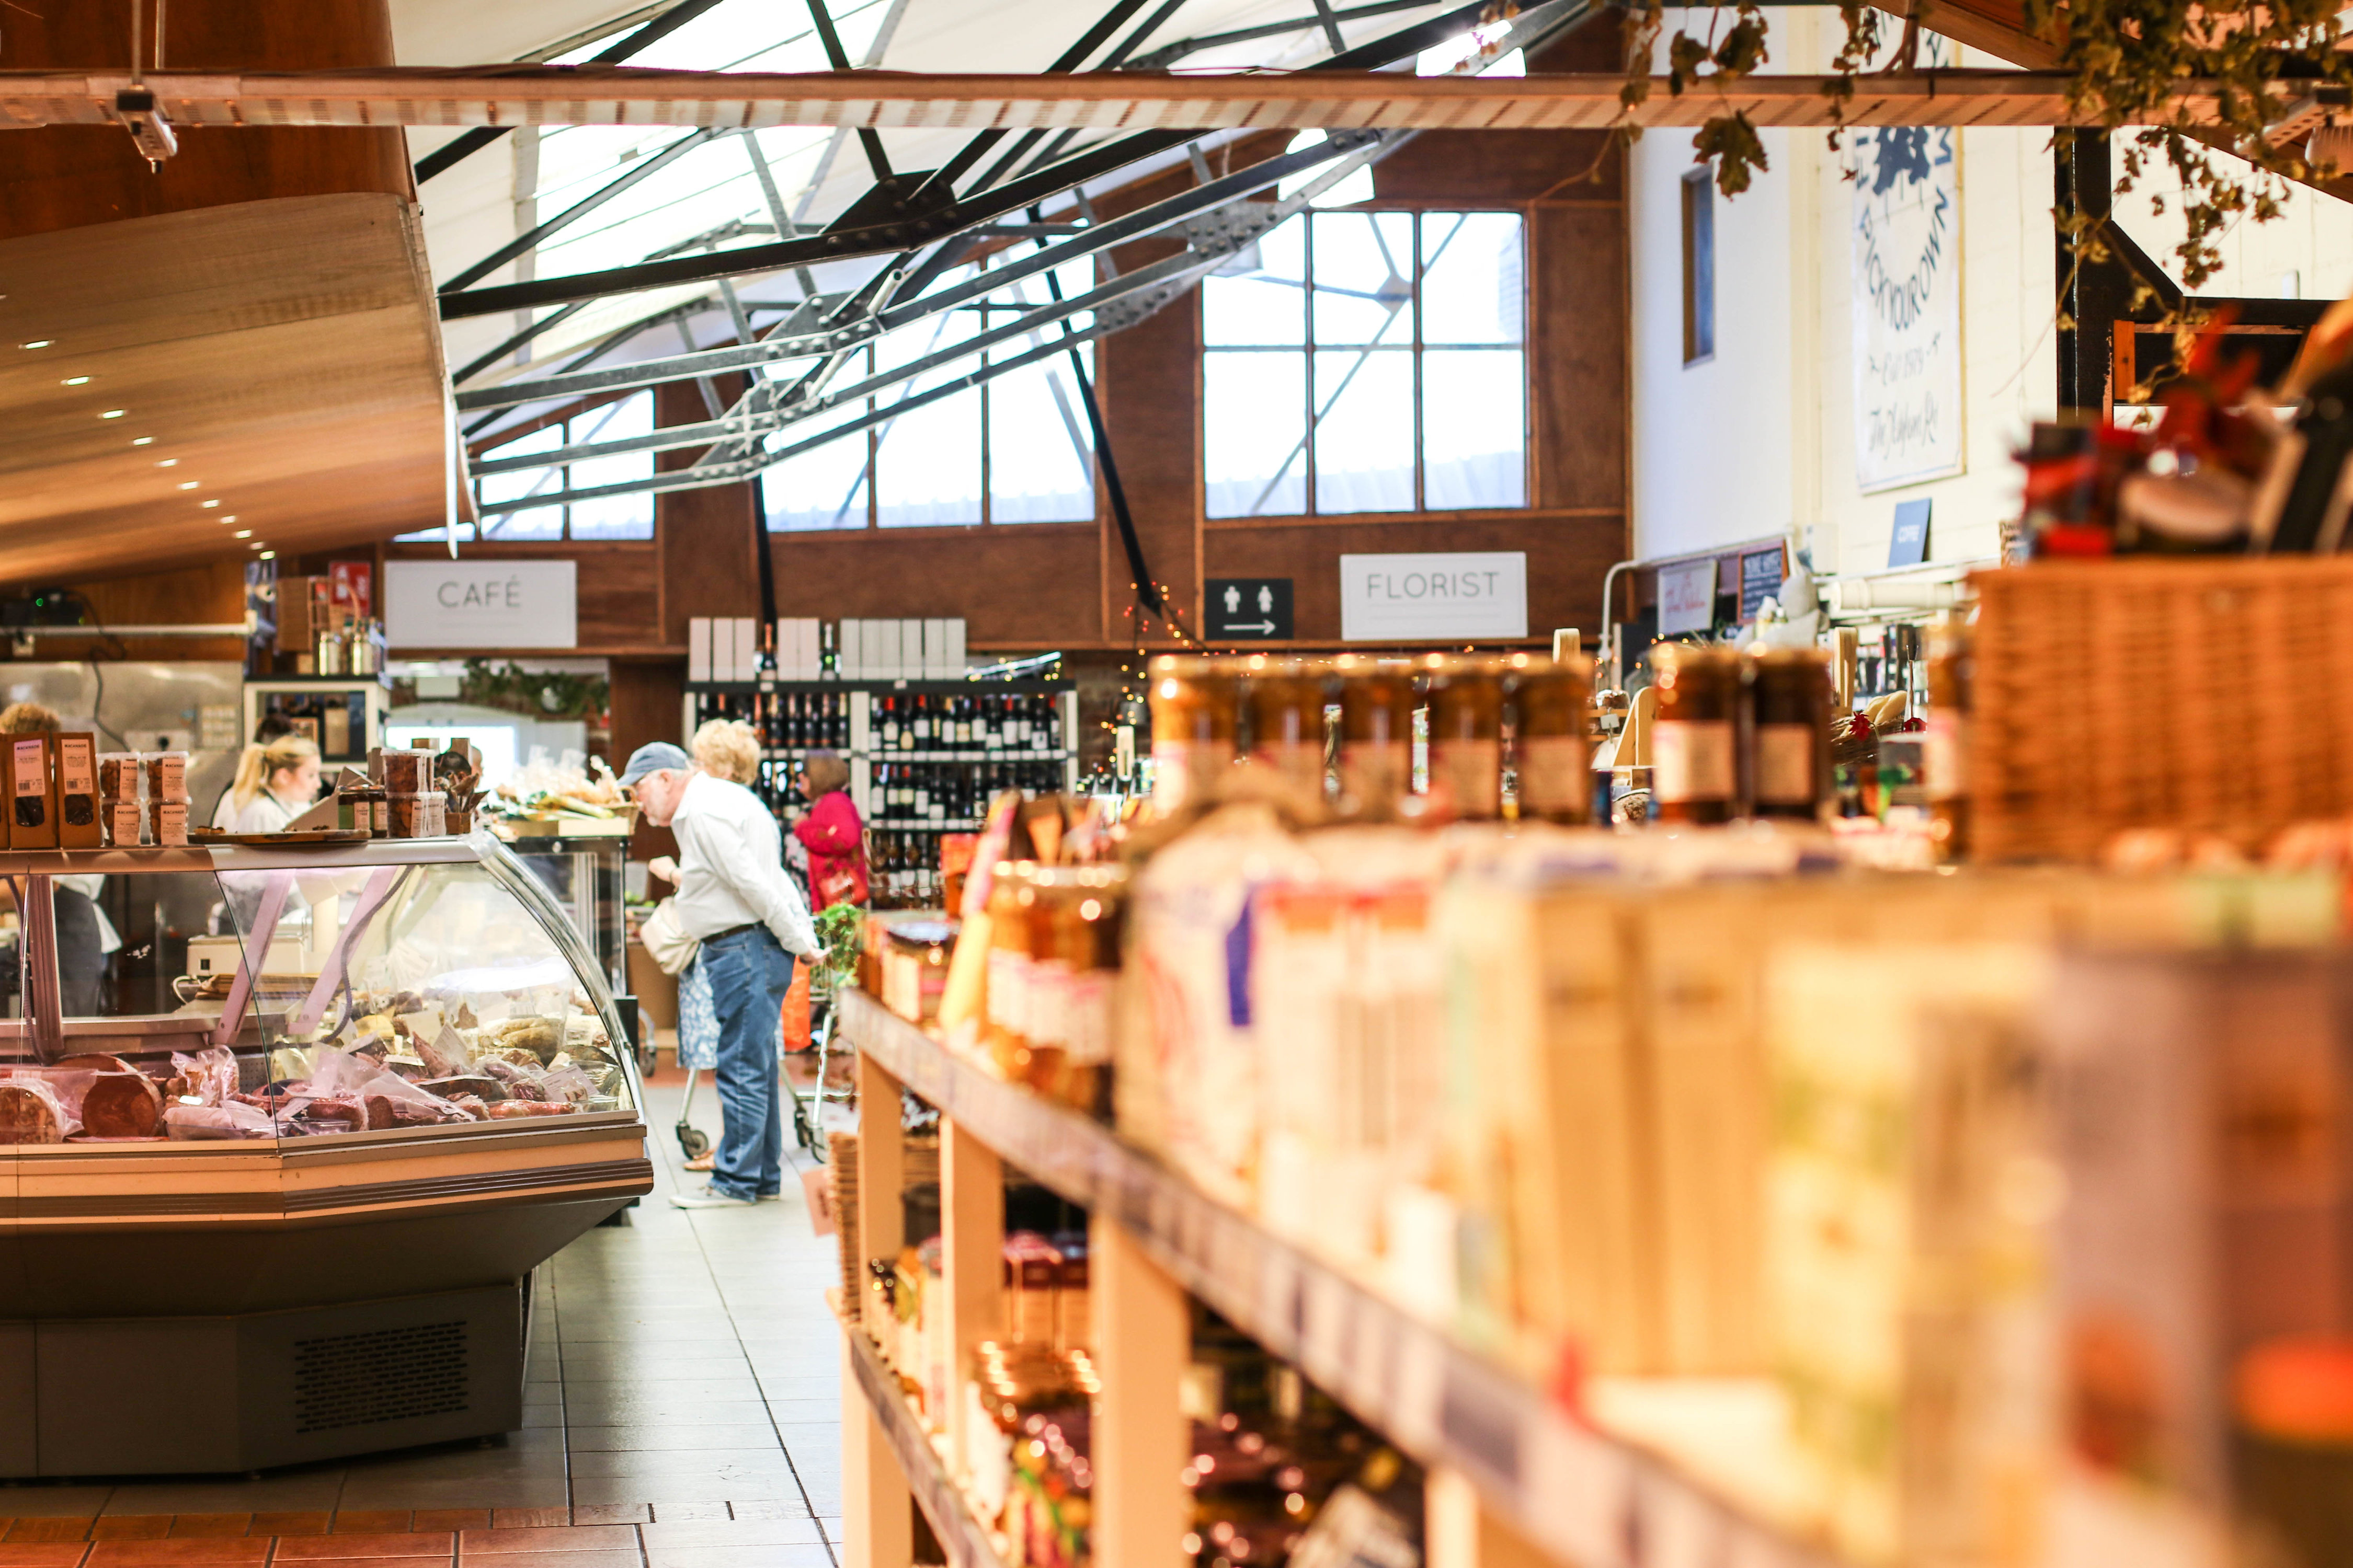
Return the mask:
M2348 1561L2353 966L2078 954L2047 1034L2061 1547L2167 1568Z

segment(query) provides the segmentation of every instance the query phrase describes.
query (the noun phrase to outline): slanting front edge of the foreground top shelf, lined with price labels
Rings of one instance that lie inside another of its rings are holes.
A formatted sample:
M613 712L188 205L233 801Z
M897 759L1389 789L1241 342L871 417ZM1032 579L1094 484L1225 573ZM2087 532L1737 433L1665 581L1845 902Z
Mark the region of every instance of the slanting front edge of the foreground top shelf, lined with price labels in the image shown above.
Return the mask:
M1212 1201L1111 1128L1005 1084L864 992L842 1030L887 1074L1064 1199L1111 1215L1179 1286L1560 1563L1831 1568L1661 1458Z

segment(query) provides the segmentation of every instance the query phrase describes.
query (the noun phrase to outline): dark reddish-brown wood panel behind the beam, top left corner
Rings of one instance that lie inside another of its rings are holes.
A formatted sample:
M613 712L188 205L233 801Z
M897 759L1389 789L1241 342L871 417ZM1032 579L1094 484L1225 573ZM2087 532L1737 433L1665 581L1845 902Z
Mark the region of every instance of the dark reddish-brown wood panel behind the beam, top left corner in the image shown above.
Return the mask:
M153 38L155 7L146 7ZM0 71L120 71L129 63L129 0L0 5ZM386 0L172 0L165 63L174 68L332 71L391 66ZM414 197L398 129L181 129L160 172L115 127L49 127L0 136L0 237L273 195L351 190Z

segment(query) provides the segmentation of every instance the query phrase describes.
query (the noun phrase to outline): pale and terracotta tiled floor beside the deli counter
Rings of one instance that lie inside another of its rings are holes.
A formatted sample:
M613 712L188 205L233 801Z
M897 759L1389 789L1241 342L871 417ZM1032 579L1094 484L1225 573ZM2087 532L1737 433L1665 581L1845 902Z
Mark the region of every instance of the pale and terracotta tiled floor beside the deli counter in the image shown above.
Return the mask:
M259 1479L0 1486L0 1568L831 1568L833 1241L793 1173L781 1204L671 1208L704 1178L671 1133L682 1077L649 1088L654 1194L539 1269L522 1432ZM694 1112L718 1131L708 1077Z

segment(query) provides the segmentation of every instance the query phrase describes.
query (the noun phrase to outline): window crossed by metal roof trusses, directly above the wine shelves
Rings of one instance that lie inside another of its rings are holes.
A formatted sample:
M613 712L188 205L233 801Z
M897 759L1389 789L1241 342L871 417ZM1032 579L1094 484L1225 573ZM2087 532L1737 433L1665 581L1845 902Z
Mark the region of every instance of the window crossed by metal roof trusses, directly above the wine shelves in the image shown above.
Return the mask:
M998 263L1012 259L1000 254ZM958 268L934 284L974 277ZM1094 287L1092 263L1054 270L1064 299ZM1021 331L986 350L974 339L1009 327L1052 299L1042 275L955 306L856 350L828 390L882 381L922 364L908 378L875 386L814 418L767 437L788 454L762 475L767 527L915 529L1094 520L1094 440L1061 327ZM1073 331L1089 313L1068 317ZM1089 346L1078 348L1094 376ZM979 386L958 386L981 367L1019 362ZM784 376L800 367L784 367ZM946 390L955 388L955 390Z

